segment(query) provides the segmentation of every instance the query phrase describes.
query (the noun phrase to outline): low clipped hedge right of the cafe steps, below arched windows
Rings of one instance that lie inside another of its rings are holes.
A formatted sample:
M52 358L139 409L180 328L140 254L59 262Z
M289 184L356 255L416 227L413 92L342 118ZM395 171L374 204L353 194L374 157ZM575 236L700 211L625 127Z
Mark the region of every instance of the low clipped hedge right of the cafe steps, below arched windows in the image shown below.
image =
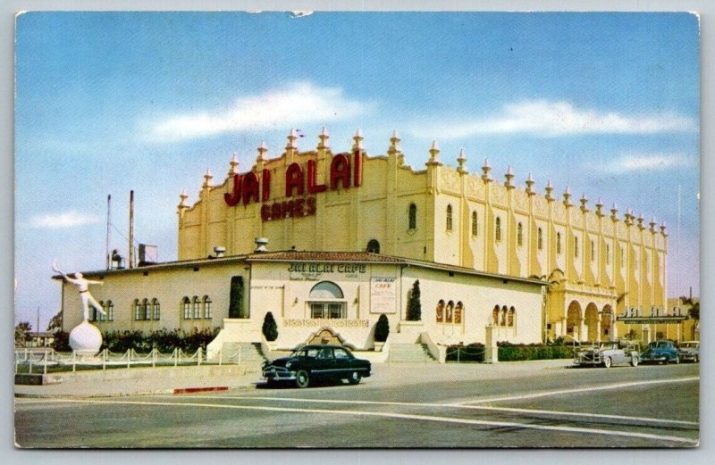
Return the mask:
M500 361L570 359L574 349L570 345L497 343ZM447 361L484 361L484 344L450 345Z

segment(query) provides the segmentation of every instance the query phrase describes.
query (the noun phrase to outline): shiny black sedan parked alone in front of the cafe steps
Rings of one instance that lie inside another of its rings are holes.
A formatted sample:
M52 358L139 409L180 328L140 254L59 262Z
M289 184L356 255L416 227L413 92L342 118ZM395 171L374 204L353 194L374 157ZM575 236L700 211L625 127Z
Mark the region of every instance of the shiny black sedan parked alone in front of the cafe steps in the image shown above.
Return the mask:
M290 381L298 387L307 387L319 379L347 379L357 385L371 374L370 361L357 359L342 345L304 345L288 357L266 361L263 367L263 378L269 385Z

